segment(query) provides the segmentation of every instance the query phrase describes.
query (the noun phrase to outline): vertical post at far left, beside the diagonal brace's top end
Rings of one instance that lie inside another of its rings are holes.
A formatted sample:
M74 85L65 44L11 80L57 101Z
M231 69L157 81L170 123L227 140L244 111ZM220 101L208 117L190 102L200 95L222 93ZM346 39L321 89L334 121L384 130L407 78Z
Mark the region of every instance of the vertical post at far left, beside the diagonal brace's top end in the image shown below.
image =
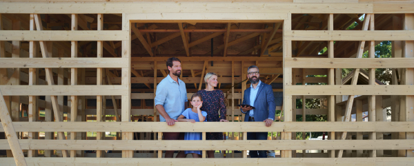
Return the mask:
M30 30L35 30L34 16L30 14ZM34 58L37 56L37 45L34 41L29 41L29 57ZM29 68L29 85L37 84L37 69ZM28 117L29 122L37 121L37 96L29 96L29 108ZM29 132L28 139L37 138L37 132ZM28 150L28 157L36 157L37 150Z

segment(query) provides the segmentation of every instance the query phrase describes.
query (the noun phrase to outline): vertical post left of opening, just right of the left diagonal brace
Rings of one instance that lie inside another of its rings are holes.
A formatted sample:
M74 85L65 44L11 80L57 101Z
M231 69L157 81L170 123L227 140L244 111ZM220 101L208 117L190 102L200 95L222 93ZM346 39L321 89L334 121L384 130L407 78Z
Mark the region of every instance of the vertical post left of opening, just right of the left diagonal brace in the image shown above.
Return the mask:
M70 30L77 30L78 14L72 14L72 26ZM77 41L70 41L70 58L77 58ZM70 68L70 85L77 85L78 82L78 71L77 68ZM77 110L78 110L78 96L70 96L70 121L77 121ZM70 140L77 138L77 132L70 133ZM70 157L76 157L76 150L70 151Z

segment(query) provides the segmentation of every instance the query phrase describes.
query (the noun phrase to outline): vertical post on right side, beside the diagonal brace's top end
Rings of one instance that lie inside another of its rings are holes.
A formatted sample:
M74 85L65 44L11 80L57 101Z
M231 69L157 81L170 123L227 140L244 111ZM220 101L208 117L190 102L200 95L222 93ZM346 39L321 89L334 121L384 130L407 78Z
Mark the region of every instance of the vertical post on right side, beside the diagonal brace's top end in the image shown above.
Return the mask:
M374 14L372 14L371 16L374 16ZM375 17L371 17L371 21L369 23L369 30L375 30L374 23L375 23ZM368 58L375 58L375 41L370 42L370 46L368 50ZM368 69L368 84L375 85L375 69ZM368 96L368 121L375 122L375 120L376 120L375 95L371 95L371 96ZM376 132L369 133L368 139L376 140L377 133ZM370 150L368 151L368 155L370 157L377 157L377 151Z

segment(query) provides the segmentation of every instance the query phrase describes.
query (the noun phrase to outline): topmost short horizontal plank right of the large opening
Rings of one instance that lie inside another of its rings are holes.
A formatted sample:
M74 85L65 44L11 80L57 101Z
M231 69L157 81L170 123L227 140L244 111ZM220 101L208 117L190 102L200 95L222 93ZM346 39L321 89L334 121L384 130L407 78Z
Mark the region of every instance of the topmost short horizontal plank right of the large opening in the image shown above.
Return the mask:
M411 41L412 30L288 30L292 41Z

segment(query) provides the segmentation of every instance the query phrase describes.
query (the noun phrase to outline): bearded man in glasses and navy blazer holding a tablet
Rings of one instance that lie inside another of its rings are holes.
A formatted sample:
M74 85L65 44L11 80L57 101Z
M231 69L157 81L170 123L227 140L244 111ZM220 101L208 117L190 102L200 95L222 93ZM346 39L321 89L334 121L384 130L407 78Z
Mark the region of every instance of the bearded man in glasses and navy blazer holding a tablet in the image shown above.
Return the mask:
M250 80L250 87L244 90L243 104L255 107L240 107L243 114L246 114L244 121L264 122L267 127L275 120L275 96L272 86L260 81L259 68L251 65L247 69L247 77ZM248 140L267 140L267 132L248 132ZM250 150L250 158L266 158L266 150Z

